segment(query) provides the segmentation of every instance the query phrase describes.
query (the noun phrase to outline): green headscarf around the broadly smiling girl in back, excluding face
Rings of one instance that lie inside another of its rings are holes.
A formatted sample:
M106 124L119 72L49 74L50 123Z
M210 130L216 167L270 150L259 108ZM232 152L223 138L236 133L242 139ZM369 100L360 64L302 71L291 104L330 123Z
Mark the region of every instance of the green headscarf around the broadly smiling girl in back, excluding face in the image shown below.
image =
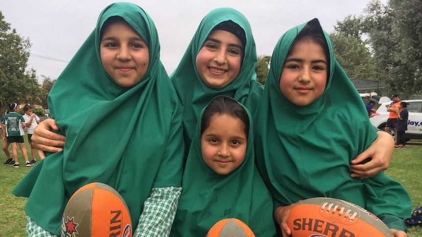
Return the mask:
M243 63L239 75L233 82L223 88L213 89L199 77L196 56L211 30L219 23L226 21L238 24L245 31L246 45ZM208 13L199 24L180 64L170 75L170 80L183 106L183 130L187 147L185 152L189 151L199 113L215 96L225 95L234 98L254 113L263 91L263 87L256 81L257 74L254 71L256 65L257 49L248 20L232 8L217 8Z

